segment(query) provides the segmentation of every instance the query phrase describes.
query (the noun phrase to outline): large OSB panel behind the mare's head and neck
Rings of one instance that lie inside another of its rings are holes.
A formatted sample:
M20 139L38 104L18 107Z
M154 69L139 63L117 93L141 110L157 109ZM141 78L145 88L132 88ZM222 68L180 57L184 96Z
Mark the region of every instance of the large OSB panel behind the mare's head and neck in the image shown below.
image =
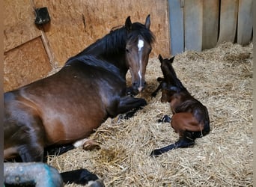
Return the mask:
M111 28L124 25L127 16L132 22L144 23L150 14L150 30L156 35L151 56L170 54L166 0L35 0L34 4L48 7L51 23L46 36L59 65L108 34Z

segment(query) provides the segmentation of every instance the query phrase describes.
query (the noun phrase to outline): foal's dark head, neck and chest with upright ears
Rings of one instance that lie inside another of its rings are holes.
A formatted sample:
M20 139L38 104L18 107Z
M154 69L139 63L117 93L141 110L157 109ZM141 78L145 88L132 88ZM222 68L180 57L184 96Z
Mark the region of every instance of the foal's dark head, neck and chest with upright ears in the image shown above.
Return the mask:
M172 67L174 57L163 59L162 56L159 55L158 59L161 63L161 70L164 76L164 78L160 80L162 85L161 101L171 102L171 96L173 96L174 93L180 93L186 90L186 88L184 88L180 80L177 79L174 68Z

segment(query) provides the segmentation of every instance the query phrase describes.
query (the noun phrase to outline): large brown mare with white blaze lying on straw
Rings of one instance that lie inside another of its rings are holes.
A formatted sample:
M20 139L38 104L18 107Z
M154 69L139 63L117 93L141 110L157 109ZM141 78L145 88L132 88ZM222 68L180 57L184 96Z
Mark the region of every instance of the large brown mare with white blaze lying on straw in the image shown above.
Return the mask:
M149 28L150 16L145 24L127 17L58 73L4 93L4 159L42 162L44 148L73 144L108 117L129 117L146 105L127 96L125 76L132 74L132 94L142 91L154 40Z

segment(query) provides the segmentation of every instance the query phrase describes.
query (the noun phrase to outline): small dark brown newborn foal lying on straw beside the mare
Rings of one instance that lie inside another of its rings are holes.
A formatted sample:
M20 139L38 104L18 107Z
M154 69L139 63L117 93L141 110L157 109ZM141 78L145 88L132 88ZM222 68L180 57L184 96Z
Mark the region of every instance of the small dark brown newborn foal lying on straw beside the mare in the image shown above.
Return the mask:
M174 57L163 59L159 55L161 70L164 78L158 78L159 88L162 89L161 102L169 102L172 117L164 117L164 121L170 119L171 127L180 136L179 140L167 147L153 150L151 156L158 156L168 150L179 147L189 147L195 144L196 138L201 138L210 132L210 120L207 108L195 99L177 79L172 62ZM153 92L153 96L159 90Z

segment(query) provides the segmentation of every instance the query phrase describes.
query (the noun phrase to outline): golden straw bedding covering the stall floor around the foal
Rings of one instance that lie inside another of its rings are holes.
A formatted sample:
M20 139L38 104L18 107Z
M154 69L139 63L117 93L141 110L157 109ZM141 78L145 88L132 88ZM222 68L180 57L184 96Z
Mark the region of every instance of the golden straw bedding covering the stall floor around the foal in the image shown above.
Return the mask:
M157 122L171 110L160 102L161 91L150 96L162 76L158 59L151 58L147 88L138 95L147 105L129 120L106 120L91 135L100 150L70 150L49 158L49 165L58 171L87 168L106 186L252 186L252 43L183 52L174 70L210 114L210 134L196 139L194 147L149 156L178 138L169 123Z

